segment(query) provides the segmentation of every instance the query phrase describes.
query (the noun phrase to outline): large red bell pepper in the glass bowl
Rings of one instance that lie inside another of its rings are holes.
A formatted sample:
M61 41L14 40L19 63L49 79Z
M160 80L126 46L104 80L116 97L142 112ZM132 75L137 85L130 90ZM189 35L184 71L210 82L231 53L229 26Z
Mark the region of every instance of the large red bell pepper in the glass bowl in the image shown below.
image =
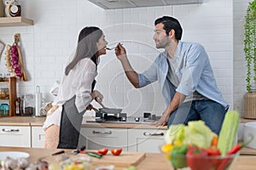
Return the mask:
M198 147L190 147L187 152L187 164L191 170L206 170L209 162L205 159L208 156L207 150Z

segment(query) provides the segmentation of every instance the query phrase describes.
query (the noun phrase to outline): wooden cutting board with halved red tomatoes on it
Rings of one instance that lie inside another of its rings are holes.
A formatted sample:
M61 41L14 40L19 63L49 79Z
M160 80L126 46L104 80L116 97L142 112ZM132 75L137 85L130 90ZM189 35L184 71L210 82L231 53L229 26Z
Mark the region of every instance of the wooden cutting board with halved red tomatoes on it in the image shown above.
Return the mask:
M137 166L145 157L146 154L141 152L122 152L119 156L112 156L111 153L108 153L101 159L91 157L91 162L93 166L113 164L115 167L130 167Z

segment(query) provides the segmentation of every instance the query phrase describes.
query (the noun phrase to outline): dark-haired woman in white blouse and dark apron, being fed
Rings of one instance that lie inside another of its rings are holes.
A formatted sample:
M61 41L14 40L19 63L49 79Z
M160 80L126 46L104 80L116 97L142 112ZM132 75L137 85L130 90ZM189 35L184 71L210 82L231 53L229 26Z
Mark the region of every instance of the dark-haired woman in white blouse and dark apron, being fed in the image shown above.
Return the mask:
M94 89L99 57L106 54L108 42L97 27L85 27L73 60L65 68L53 107L44 122L45 148L76 149L84 112L90 102L102 102L102 94Z

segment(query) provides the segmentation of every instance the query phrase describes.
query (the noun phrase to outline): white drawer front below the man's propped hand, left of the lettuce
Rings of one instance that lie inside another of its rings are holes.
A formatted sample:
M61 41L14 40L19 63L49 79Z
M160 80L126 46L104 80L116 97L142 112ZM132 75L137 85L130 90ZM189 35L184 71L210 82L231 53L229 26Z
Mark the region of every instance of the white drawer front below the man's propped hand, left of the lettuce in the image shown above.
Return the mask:
M165 133L166 130L160 129L128 129L128 150L160 153Z

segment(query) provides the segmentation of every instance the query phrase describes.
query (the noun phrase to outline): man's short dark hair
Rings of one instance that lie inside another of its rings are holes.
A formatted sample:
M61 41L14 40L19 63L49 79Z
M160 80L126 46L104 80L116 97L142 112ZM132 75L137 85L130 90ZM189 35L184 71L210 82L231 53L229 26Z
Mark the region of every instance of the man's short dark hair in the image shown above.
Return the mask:
M162 23L164 25L164 30L166 35L169 35L169 32L173 29L175 31L175 38L181 40L183 35L183 28L180 26L177 19L172 18L171 16L163 16L154 21L154 26Z

